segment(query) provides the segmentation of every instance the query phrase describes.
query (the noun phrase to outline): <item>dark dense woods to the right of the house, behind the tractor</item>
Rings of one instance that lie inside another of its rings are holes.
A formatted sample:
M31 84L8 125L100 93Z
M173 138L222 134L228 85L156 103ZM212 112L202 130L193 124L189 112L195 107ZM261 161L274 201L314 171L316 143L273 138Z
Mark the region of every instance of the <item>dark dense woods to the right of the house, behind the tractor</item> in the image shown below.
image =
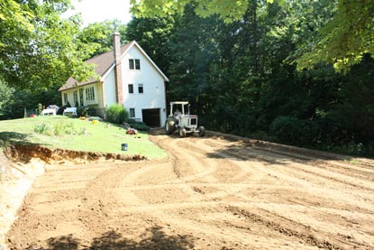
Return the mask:
M138 5L144 13L145 2ZM338 1L295 0L282 5L246 1L240 21L231 23L217 15L196 14L205 1L173 2L169 5L181 9L169 9L177 13L169 17L172 28L137 18L126 33L144 41L147 48L158 44L167 48L167 52L155 50L152 57L159 56L167 70L168 98L189 101L199 124L284 144L370 154L374 145L370 55L346 75L336 73L333 65L316 64L315 69L303 71L293 65L332 21ZM159 11L156 7L151 12ZM168 39L159 43L151 29L168 33Z

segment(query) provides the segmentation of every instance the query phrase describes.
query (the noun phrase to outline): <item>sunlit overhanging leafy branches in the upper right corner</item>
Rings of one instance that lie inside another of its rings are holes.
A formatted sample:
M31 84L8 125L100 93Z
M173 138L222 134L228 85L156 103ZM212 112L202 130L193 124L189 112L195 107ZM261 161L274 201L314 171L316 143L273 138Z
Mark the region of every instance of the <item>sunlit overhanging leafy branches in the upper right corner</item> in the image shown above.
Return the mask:
M321 30L308 51L297 59L297 68L312 68L318 62L333 64L346 72L360 63L364 54L374 58L374 1L344 1L337 5L333 20Z

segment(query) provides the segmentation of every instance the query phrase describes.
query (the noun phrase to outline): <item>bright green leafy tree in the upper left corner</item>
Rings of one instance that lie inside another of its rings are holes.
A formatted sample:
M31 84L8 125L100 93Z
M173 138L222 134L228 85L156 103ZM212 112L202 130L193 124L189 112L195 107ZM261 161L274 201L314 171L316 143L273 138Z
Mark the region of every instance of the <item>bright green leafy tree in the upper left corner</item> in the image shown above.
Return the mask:
M78 40L79 16L61 20L68 0L0 2L0 76L15 88L49 88L94 70L83 62L91 44Z

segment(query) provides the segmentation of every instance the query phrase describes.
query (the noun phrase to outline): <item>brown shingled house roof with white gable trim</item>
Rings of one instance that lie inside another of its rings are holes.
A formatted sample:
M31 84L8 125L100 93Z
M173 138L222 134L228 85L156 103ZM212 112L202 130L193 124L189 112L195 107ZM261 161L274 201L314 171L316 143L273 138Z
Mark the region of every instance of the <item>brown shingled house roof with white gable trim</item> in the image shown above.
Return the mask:
M145 51L143 51L141 49L141 46L135 41L127 43L127 44L125 44L121 47L121 58L123 58L124 54L126 54L127 51L129 51L132 48L132 46L134 46L134 45L138 47L138 49L144 54L144 56L148 60L150 60L153 67L160 72L160 75L166 81L169 81L169 79L164 75L164 73L159 69L159 67L157 67L157 65L153 62L153 60L151 60L151 58L147 55L147 53ZM112 51L105 52L105 53L100 54L100 55L98 55L94 58L86 60L85 62L87 64L92 64L92 63L95 64L96 65L96 67L95 67L96 74L99 75L100 78L103 78L105 76L105 73L108 72L109 69L112 69L112 67L114 67L114 51L112 50ZM67 80L67 82L61 88L59 88L59 91L65 90L65 89L68 89L68 88L75 88L77 86L87 85L87 84L90 84L90 83L94 83L96 81L97 81L96 79L88 79L87 81L79 82L77 79L73 79L72 77L70 77Z

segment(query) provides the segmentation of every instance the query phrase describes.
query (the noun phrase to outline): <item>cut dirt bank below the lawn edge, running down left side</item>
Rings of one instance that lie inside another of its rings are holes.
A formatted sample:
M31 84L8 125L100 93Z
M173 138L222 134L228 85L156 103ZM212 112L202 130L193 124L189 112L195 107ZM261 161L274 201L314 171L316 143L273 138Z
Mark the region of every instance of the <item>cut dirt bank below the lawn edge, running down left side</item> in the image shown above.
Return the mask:
M0 250L6 245L5 234L16 218L17 209L33 181L44 173L45 164L142 160L146 157L139 154L50 150L41 145L23 144L6 147L4 155L0 155Z

